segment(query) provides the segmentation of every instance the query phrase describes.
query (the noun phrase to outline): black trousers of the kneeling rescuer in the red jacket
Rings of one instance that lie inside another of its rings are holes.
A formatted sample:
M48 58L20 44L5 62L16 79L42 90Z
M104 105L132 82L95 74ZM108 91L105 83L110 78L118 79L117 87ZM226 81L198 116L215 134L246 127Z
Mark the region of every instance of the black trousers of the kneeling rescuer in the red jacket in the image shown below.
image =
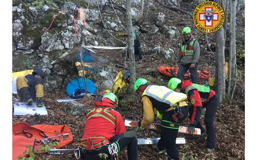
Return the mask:
M138 141L136 137L125 137L118 140L119 151L124 150L127 146L127 153L129 160L138 159ZM81 153L82 160L101 160L99 154L105 153L108 155L107 159L113 159L108 151L108 145L102 146L99 150L85 151Z

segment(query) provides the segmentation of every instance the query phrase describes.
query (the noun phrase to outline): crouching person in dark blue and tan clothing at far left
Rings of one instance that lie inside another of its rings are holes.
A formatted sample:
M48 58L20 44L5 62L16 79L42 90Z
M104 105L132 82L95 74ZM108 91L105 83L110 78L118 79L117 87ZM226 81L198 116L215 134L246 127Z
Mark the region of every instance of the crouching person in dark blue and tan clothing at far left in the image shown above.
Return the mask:
M32 74L26 76L18 76L16 80L17 95L20 100L27 105L31 105L33 101L36 106L41 107L42 98L44 97L44 74L42 70L36 68Z

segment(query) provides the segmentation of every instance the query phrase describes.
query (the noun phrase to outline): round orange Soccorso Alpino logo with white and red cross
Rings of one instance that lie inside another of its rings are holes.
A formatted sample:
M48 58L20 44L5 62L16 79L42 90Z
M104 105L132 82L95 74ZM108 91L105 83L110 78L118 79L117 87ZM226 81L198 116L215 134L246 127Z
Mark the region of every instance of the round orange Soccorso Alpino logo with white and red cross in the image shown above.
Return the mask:
M199 31L214 33L222 28L225 12L217 2L201 2L193 11L193 22Z

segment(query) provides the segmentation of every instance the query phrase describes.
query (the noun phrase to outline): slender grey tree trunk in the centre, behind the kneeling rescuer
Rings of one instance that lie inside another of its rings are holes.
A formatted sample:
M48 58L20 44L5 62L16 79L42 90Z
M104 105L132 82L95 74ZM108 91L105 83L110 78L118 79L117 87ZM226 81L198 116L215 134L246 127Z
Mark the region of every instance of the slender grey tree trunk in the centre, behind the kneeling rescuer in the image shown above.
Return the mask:
M129 52L129 68L130 68L130 84L134 84L136 79L135 55L134 55L134 31L132 30L132 15L130 14L130 0L126 0L126 19L128 31L128 52ZM132 89L132 87L131 87Z

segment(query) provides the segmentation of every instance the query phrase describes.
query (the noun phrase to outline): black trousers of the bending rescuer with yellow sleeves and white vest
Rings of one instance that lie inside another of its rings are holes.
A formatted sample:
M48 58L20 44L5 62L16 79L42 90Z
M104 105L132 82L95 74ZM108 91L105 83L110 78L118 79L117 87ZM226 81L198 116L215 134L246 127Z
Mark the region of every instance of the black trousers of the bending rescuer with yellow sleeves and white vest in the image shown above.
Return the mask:
M161 138L158 142L158 149L166 149L169 160L180 159L176 145L176 138L178 135L178 127L180 126L180 123L186 119L186 116L188 116L188 106L183 106L181 109L183 118L176 119L174 116L174 110L167 111L162 114ZM167 121L170 122L169 125Z

